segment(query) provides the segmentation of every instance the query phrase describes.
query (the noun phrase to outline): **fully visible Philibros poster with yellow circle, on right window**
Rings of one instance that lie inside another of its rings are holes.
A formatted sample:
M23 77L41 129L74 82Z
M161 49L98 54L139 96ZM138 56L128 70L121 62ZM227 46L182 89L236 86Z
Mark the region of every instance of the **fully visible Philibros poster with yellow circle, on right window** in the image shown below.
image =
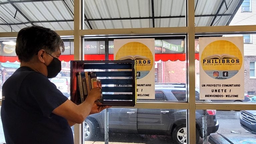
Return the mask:
M244 99L243 37L199 38L200 99Z

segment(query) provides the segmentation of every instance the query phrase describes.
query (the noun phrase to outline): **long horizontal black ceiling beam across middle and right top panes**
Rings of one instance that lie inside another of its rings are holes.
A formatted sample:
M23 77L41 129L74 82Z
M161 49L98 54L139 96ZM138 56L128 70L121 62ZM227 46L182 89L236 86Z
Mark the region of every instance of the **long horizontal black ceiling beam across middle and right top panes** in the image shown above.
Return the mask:
M231 16L232 14L218 14L217 16ZM195 17L214 17L215 15L195 15ZM154 17L154 19L161 18L185 18L185 16L163 16ZM134 18L104 18L104 19L88 19L88 21L101 21L101 20L135 20L135 19L153 19L153 17L134 17Z

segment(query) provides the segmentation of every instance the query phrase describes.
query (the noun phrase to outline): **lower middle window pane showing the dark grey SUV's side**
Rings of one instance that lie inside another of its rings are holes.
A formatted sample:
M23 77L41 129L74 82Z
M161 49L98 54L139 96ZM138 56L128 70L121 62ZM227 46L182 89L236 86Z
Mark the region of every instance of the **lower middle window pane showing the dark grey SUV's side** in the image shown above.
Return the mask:
M187 142L185 109L109 108L109 142ZM85 120L85 141L104 142L105 110ZM93 143L92 142L92 143Z

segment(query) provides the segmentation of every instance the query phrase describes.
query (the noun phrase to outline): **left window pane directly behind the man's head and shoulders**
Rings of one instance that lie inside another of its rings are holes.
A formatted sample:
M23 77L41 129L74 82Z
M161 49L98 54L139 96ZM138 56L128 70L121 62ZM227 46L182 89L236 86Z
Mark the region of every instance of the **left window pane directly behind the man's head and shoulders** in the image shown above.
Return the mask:
M61 60L61 71L57 77L61 77L60 81L52 79L52 82L57 88L69 98L70 96L70 64L69 61L72 59L71 53L74 53L74 42L73 39L63 39L65 50L60 56ZM0 89L4 82L20 67L18 57L15 53L15 39L0 40ZM73 42L73 43L71 43ZM63 79L65 80L63 80ZM0 93L2 99L2 92Z

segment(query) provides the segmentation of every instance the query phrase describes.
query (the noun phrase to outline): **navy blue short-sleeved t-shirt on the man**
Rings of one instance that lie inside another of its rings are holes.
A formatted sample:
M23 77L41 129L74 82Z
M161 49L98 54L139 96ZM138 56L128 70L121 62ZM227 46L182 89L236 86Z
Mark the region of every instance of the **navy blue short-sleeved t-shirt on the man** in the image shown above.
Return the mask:
M43 74L18 68L2 87L6 144L73 144L68 121L52 111L67 100Z

